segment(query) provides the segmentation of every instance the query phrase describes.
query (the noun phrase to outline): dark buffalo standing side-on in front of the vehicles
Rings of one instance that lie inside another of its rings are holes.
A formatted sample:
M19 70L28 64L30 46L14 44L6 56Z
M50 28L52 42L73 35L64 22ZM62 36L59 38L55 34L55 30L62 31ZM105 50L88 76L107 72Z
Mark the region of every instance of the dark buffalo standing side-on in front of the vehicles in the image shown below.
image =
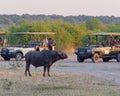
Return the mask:
M66 59L68 56L66 53L62 51L52 51L52 50L43 50L43 51L30 51L25 55L26 61L26 69L25 75L27 76L27 72L29 76L32 76L30 73L30 64L35 67L44 66L43 76L45 76L45 72L47 69L48 76L50 76L50 67L51 65L60 60Z

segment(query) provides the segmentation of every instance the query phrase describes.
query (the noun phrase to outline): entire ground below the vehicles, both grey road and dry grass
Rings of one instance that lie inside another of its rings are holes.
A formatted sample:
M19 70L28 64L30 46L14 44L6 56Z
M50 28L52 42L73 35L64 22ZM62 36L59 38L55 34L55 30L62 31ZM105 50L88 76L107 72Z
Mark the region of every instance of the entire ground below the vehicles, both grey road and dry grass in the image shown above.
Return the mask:
M32 77L25 77L24 60L1 61L0 96L120 96L119 63L78 63L75 55L68 55L52 66L51 77L33 66Z

